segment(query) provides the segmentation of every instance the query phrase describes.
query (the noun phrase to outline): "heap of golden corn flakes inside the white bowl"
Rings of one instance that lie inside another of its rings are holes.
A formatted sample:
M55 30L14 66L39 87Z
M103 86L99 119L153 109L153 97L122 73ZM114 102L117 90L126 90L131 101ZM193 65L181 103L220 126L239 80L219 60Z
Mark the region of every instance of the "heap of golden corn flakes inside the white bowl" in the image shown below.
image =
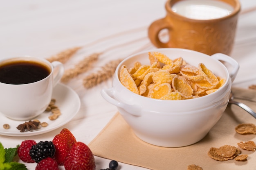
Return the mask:
M160 52L148 52L148 59L150 65L139 61L130 69L122 65L119 74L121 83L141 96L161 100L198 98L216 92L226 82L203 63L197 68L182 57L172 60Z

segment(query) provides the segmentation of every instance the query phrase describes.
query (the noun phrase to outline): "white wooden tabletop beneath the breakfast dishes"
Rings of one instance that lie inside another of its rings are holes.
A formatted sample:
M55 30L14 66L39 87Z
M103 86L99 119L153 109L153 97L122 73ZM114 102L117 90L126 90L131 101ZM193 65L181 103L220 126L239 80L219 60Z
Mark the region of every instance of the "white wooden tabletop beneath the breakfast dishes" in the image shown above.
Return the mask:
M154 49L147 38L151 22L166 15L165 0L1 0L0 59L31 55L48 58L75 46L84 48L69 61L75 64L81 57L104 52L94 72L107 61L124 58L139 50ZM234 86L248 88L256 84L256 1L240 0L241 15L231 57L240 64ZM66 65L68 67L69 65ZM52 140L62 128L68 128L77 141L88 144L117 112L115 106L100 95L111 87L111 79L91 89L85 89L81 79L67 83L79 95L81 109L60 128L42 135L11 137L0 135L5 148L15 147L25 139ZM2 126L2 125L1 125ZM125 154L125 153L124 153ZM108 168L110 160L95 157L97 170ZM121 170L145 168L119 163ZM33 170L36 163L27 163ZM64 169L64 167L61 167Z

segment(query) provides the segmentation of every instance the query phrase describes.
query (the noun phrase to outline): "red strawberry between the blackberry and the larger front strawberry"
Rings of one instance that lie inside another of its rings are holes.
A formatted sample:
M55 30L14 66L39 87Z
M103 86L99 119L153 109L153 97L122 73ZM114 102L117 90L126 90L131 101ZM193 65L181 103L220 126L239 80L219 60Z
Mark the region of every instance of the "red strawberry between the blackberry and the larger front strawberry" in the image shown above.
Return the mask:
M55 146L55 159L58 165L64 165L65 158L69 153L71 147L76 142L74 135L66 128L54 137L52 140Z

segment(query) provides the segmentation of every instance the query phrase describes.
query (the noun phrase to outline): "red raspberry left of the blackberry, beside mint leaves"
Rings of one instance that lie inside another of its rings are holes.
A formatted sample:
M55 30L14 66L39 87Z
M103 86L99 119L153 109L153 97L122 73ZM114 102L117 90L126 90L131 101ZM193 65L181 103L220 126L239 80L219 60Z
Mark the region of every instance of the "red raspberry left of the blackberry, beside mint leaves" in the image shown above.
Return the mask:
M34 140L24 140L21 142L21 144L17 150L20 160L22 160L24 162L29 162L29 163L35 162L33 159L31 159L31 157L29 155L29 150L35 144L36 144L36 141L34 141Z

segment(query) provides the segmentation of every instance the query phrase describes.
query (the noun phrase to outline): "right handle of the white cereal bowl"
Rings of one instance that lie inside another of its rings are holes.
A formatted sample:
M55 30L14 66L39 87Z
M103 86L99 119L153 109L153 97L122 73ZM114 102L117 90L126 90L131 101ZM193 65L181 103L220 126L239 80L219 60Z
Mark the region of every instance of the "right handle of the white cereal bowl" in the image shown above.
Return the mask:
M236 78L236 74L238 73L238 70L239 70L238 62L236 60L234 60L233 58L229 57L228 55L222 54L222 53L213 54L213 55L211 55L211 57L213 57L213 58L215 58L215 59L217 59L219 61L225 61L225 62L229 63L233 67L233 70L231 70L229 72L229 76L231 78L231 82L233 83L233 81Z

